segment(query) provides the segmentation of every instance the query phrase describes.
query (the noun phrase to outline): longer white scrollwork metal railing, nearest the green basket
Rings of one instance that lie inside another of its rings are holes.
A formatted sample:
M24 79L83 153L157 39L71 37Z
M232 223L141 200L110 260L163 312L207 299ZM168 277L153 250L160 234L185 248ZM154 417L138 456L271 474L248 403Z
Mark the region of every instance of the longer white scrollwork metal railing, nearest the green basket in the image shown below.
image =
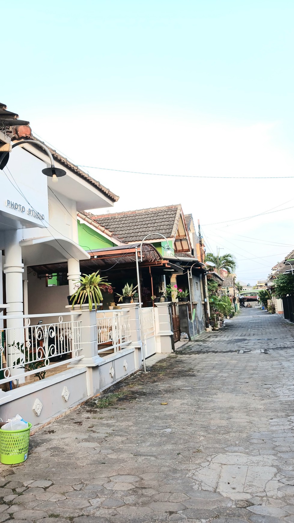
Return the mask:
M1 316L15 326L0 329L0 384L22 382L30 374L42 379L49 368L83 358L79 355L81 321L74 319L76 314L80 313ZM51 322L54 316L58 317Z

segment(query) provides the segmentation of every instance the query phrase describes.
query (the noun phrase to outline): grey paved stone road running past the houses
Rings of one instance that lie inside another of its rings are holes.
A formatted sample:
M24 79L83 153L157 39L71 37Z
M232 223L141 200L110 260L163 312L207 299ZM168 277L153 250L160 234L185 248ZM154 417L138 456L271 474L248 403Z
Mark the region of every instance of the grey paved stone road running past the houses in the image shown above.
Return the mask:
M0 521L294 523L293 341L243 310L42 429L0 468Z

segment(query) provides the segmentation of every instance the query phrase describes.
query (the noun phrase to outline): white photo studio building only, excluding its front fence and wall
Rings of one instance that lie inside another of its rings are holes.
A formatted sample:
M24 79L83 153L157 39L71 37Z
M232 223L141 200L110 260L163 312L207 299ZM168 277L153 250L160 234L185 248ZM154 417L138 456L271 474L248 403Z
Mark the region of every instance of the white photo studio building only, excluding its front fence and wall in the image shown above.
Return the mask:
M7 314L64 310L67 295L72 294L80 275L79 260L90 257L78 245L77 211L112 207L118 200L66 158L50 152L55 167L66 173L58 183L42 174L50 158L34 140L14 147L6 167L0 170L0 263L4 273L0 303L7 304ZM31 265L64 261L69 287L45 288L45 283L27 270Z

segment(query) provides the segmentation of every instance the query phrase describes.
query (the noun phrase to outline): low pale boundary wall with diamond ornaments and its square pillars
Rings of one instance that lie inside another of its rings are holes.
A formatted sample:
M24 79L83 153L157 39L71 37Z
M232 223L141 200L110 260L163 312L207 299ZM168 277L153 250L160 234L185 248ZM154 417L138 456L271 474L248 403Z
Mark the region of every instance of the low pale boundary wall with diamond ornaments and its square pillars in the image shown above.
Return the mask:
M130 345L103 358L98 355L96 311L85 308L80 314L83 359L71 366L69 360L67 370L54 376L9 392L0 391L0 417L4 421L20 414L32 423L32 430L38 429L142 369L138 304L124 310L131 319ZM155 315L157 352L171 353L168 304L159 303Z

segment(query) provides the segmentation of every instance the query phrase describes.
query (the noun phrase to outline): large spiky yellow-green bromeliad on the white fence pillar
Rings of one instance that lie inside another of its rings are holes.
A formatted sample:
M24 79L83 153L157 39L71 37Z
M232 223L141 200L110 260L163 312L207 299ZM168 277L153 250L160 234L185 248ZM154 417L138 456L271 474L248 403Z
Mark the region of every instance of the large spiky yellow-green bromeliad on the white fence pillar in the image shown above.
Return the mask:
M107 278L100 276L99 270L92 272L90 275L84 274L81 276L80 279L77 280L79 287L70 298L70 300L72 300L72 308L74 308L75 304L79 304L81 308L83 303L87 303L87 300L89 300L89 310L92 310L94 304L95 310L97 311L100 301L103 301L101 290L105 291L108 287L111 287L106 279Z

